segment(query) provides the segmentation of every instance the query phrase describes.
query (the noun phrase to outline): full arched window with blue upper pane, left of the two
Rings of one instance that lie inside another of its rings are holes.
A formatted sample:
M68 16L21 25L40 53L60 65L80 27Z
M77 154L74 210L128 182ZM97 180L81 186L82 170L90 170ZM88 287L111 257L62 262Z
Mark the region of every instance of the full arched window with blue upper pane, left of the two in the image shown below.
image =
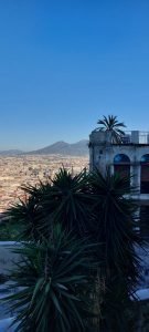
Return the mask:
M114 157L114 172L130 178L130 159L127 155L118 154Z

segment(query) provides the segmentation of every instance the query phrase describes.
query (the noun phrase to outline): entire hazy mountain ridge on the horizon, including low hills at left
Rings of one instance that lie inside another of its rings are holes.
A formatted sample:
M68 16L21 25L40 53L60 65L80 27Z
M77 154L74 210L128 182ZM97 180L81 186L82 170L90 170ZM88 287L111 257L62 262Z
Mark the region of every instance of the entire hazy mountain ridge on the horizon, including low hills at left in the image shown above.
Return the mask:
M20 149L0 151L1 156L17 156L17 155L70 155L70 156L87 156L88 155L88 141L82 139L76 143L66 143L58 141L52 145L45 146L40 149L23 152Z

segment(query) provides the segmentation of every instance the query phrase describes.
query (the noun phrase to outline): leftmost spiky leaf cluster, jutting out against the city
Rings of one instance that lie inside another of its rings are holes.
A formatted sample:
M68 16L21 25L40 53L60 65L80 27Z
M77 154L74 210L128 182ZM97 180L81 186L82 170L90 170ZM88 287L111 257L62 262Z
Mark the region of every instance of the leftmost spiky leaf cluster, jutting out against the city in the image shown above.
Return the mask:
M51 188L51 184L22 185L21 189L25 194L25 199L20 199L19 203L13 204L4 215L10 218L10 224L14 228L19 228L17 240L40 240L42 234L40 228L44 222L45 214L42 208L42 199L46 191ZM20 228L21 227L21 228Z

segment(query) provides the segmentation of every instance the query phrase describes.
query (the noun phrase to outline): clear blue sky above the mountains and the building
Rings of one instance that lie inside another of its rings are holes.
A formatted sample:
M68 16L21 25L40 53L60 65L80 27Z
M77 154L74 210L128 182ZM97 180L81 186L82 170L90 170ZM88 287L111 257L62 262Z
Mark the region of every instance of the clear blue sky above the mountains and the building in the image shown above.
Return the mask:
M149 131L148 0L0 1L0 149Z

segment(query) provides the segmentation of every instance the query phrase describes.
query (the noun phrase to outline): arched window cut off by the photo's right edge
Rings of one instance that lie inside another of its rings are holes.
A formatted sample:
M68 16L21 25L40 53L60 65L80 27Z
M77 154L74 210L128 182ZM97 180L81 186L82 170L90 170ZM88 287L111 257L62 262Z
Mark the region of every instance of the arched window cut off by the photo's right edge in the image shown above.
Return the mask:
M141 178L140 193L149 194L149 154L143 155L140 159Z

